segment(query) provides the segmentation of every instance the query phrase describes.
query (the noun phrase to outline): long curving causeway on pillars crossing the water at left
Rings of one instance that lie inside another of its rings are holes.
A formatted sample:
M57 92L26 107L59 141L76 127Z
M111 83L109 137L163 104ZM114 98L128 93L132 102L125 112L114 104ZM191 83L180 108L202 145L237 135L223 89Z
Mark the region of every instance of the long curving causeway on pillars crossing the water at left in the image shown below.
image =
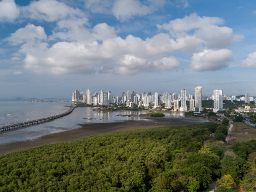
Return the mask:
M64 116L69 115L70 113L72 113L72 111L76 107L77 107L77 105L72 105L72 107L69 110L67 110L66 112L61 113L59 115L54 115L54 116L51 116L51 117L46 117L46 118L41 118L41 119L36 119L36 120L30 120L30 121L26 121L26 122L23 122L23 123L15 123L13 125L6 125L6 126L3 126L3 127L0 127L0 132L12 130L12 129L17 129L17 128L20 128L20 127L27 127L27 126L30 126L30 125L44 123L44 122L51 121L51 120L54 120L54 119L57 119L57 118L61 118L61 117L64 117Z

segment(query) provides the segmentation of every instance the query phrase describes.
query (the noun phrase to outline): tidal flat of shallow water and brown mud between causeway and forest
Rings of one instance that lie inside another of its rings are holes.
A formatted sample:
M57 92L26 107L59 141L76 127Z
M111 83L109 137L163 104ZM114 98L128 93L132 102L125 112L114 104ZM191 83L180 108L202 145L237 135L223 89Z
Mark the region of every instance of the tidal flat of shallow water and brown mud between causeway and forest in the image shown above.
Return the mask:
M29 104L35 103L28 102L26 105L29 106ZM56 103L61 108L59 104ZM63 106L63 103L61 106L63 110L68 109ZM186 117L183 113L176 112L163 112L165 116L157 118L141 117L140 114L146 114L147 111L95 111L93 109L76 108L71 114L51 122L0 133L0 154L44 144L74 141L95 134L208 121L207 119ZM55 112L57 114L59 111ZM14 114L15 110L12 113Z

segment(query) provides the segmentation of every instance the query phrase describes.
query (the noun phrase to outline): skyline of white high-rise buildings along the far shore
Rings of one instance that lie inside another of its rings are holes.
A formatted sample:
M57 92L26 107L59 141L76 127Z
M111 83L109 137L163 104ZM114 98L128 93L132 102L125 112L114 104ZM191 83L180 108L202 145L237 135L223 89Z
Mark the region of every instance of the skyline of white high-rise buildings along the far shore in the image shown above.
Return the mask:
M195 95L187 96L187 92L185 89L181 90L181 93L176 96L175 93L171 94L169 92L165 92L164 94L159 94L155 92L151 94L151 92L138 94L134 91L123 92L120 97L113 97L110 91L104 92L104 90L100 90L100 93L95 92L91 93L91 90L86 90L86 93L79 92L75 90L72 94L72 102L83 102L88 105L126 105L129 107L133 106L144 106L145 108L154 107L159 108L163 106L166 109L172 108L173 110L179 111L195 111L200 112L203 110L202 108L202 87L195 87ZM207 98L208 99L208 98ZM223 100L238 100L236 96L226 96L223 95L222 90L214 90L213 95L211 96L213 102L213 112L222 111L223 110ZM241 98L239 98L240 100ZM253 100L246 94L245 100L250 102ZM188 102L187 102L188 101ZM189 106L187 106L189 103ZM162 104L162 105L161 105Z

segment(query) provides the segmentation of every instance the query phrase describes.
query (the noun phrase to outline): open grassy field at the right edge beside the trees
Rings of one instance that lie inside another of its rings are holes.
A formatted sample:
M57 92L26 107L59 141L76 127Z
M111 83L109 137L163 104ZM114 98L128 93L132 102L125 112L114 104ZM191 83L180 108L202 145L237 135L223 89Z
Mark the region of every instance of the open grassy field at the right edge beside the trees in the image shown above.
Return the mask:
M256 139L256 128L241 122L233 123L231 136L235 136L239 142Z

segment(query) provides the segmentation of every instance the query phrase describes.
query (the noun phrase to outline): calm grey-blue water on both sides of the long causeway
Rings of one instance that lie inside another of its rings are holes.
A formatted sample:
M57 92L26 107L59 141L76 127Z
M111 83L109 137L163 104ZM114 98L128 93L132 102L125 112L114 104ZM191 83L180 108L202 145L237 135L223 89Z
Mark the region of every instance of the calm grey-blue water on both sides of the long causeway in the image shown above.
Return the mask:
M56 115L69 109L64 105L70 105L70 102L0 102L0 125L8 123L18 123L36 118L42 118L50 115ZM147 111L94 111L94 108L75 108L74 111L62 118L51 122L34 125L26 128L19 128L14 131L0 133L0 144L12 143L18 141L35 140L41 136L58 133L62 131L80 128L80 124L86 123L110 123L124 120L147 120L153 124L163 124L163 122L185 120L188 123L202 123L208 120L200 118L185 117L183 113L163 112L165 114L161 121L154 118L148 119L139 116L119 116L119 115L138 115L147 113Z

